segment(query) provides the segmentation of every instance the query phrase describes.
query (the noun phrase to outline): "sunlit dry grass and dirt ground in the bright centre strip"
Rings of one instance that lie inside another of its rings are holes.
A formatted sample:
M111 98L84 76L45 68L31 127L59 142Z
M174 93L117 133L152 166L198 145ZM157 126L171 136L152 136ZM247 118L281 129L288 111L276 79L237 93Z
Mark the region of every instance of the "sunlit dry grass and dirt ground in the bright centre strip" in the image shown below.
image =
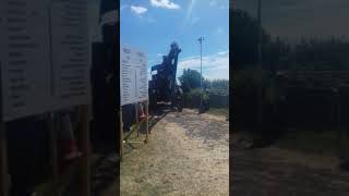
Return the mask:
M225 117L168 113L152 128L148 144L125 146L121 195L228 195L228 134Z

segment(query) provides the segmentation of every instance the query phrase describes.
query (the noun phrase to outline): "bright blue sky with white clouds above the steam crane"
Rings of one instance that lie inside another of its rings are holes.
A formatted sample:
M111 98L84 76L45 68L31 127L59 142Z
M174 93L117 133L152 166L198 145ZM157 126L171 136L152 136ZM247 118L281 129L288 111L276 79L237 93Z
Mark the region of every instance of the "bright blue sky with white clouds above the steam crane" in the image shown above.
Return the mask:
M121 42L147 53L148 68L161 62L170 44L182 49L178 75L183 69L200 71L203 36L203 75L229 78L228 0L121 0Z

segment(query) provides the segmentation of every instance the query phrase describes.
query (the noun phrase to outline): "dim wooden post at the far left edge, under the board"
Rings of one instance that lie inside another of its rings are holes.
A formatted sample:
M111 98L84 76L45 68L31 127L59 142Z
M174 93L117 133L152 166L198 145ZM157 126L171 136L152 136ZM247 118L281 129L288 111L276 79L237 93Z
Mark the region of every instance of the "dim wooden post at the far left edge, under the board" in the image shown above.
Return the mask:
M9 168L8 168L8 148L5 123L0 125L0 195L9 196Z

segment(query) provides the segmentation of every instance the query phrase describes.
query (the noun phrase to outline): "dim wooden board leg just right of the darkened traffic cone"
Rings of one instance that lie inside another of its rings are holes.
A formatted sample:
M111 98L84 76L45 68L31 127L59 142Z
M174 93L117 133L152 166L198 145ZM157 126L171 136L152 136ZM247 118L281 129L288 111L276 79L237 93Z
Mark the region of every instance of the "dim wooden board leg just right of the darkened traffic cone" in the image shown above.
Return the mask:
M89 166L89 106L80 107L82 121L77 128L80 149L82 157L80 160L80 196L91 196L91 166Z

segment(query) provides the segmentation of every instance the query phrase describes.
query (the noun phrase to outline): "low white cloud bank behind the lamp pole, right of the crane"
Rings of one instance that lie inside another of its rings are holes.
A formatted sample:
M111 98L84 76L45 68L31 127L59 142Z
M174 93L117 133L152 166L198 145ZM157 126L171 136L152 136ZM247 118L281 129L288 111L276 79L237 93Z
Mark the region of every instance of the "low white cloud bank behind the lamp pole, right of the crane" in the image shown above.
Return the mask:
M203 75L208 79L229 79L229 51L220 51L203 57ZM200 71L200 56L180 59L177 68L177 77L182 75L184 69Z

